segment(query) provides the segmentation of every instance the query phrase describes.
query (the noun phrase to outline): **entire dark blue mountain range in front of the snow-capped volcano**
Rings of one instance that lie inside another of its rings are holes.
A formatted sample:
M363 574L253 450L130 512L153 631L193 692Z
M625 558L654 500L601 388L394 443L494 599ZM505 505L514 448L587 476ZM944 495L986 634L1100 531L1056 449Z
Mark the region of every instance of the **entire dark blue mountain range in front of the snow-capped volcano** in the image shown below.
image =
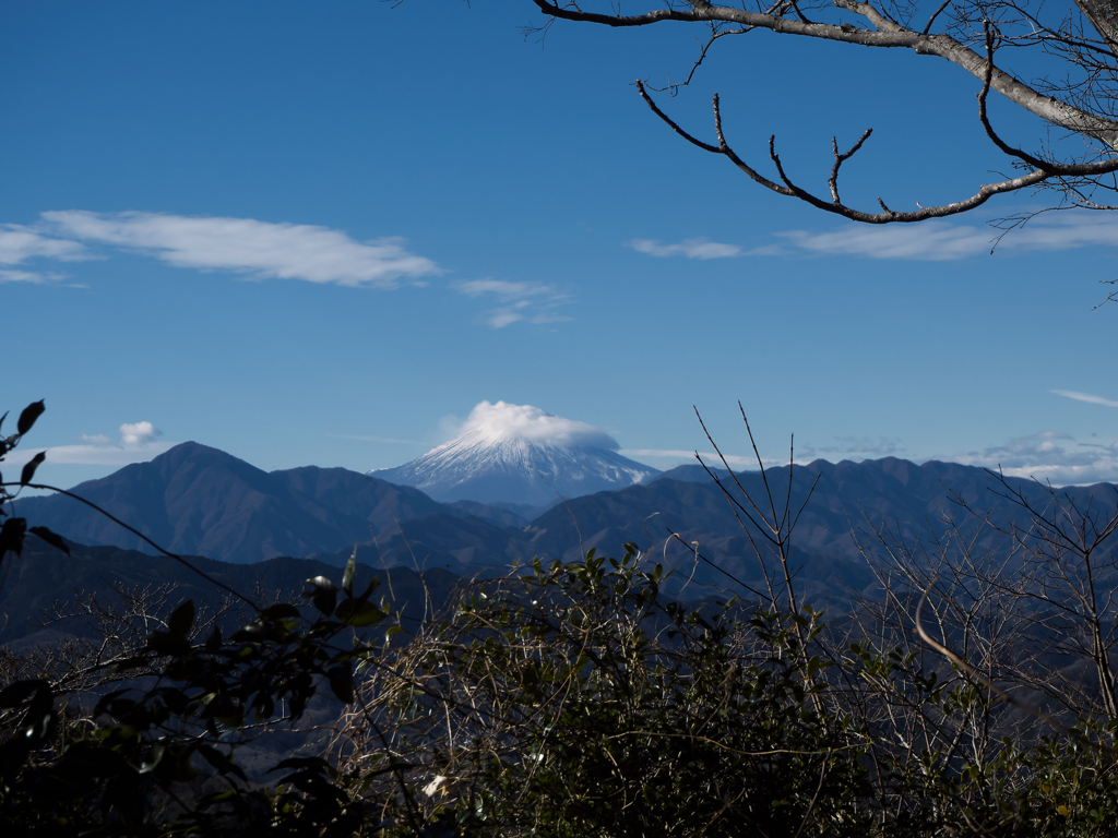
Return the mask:
M955 505L955 496L974 510L989 510L1001 527L1027 524L1020 507L999 497L1005 487L992 475L956 464L816 460L792 470L790 488L788 467L769 469L766 477L778 514L788 498L793 514L804 506L792 542L794 563L805 596L824 601L841 599L846 587L873 587L863 550L881 552L875 533L934 547L945 518L953 516L964 533L979 533L982 522ZM752 546L764 543L764 535L729 498L751 508L743 489L764 507L768 491L757 472L738 475L738 482L741 489L724 492L701 468L681 467L646 485L571 498L528 521L477 502L438 503L418 489L342 468L267 473L186 442L74 493L173 552L226 562L307 556L339 566L356 547L359 560L373 568L501 572L533 556L570 561L590 547L617 554L634 542L650 561L678 571L670 591L686 582L683 596L701 597L710 593L707 585L764 584ZM1027 480L1008 485L1040 505L1050 502ZM1082 510L1112 511L1115 505L1109 484L1061 493ZM21 498L15 506L32 525L78 543L152 552L132 533L64 496ZM697 558L695 545L709 562Z

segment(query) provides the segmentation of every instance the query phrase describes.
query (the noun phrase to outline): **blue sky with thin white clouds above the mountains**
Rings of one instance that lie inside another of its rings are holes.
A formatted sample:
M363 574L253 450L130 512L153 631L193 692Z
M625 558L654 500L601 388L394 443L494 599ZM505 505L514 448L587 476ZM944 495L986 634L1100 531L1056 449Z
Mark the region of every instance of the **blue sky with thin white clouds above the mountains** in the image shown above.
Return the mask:
M666 468L709 450L692 406L747 455L741 400L766 458L794 432L797 459L1118 479L1118 304L1092 311L1118 217L1050 213L993 256L987 221L1043 196L855 227L648 112L633 82L686 75L686 27L541 44L539 22L511 0L4 6L3 407L46 399L40 477L188 439L390 467L483 400ZM756 32L661 98L710 137L719 92L739 153L768 171L775 133L822 190L831 136L872 126L844 198L897 209L1006 168L977 91L944 61Z

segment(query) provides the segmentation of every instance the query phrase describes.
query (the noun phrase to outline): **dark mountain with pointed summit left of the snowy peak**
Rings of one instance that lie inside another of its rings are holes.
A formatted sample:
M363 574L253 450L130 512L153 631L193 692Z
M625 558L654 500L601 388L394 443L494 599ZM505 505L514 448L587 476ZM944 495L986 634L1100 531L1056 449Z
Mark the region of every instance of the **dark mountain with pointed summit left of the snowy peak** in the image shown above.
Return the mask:
M238 563L332 553L420 516L467 516L417 489L356 472L309 466L269 474L197 442L72 491L172 552ZM79 543L151 552L67 497L20 499L16 512Z

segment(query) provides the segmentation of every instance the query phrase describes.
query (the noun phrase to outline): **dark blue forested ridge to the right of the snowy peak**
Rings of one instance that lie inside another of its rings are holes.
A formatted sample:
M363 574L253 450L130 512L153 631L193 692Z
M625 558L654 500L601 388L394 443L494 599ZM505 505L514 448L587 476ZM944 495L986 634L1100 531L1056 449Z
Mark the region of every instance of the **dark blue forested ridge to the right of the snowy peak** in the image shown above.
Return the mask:
M678 570L676 579L666 585L670 592L676 592L675 585L692 573L692 585L709 583L732 589L729 577L697 562L686 545L698 542L699 551L712 564L755 588L762 588L764 577L752 543L722 491L709 479L698 482L692 472L684 475L688 479L657 479L648 485L575 498L549 510L525 530L529 549L547 559L574 561L580 549L595 547L614 554L620 544L632 541L650 550L655 561ZM780 513L789 496L788 468L768 469L766 475ZM755 502L767 510L768 495L760 474L742 472L737 477ZM1011 478L1007 483L1039 508L1050 502L1046 493L1030 480ZM883 556L874 531L885 530L890 539L897 536L913 546L923 545L935 555L934 541L945 531L947 516L966 534L982 531L979 547L994 543L996 536L978 517L953 503L953 492L973 510L988 511L991 521L999 527L1029 524L1029 514L1001 497L1004 488L982 468L938 461L920 466L892 457L839 464L816 460L796 466L790 492L793 514L811 493L792 541L794 565L802 566L798 582L808 599L841 599L842 583L859 590L873 585L862 547ZM732 493L750 508L737 487L732 487ZM1068 487L1060 491L1060 496L1070 498L1080 510L1101 513L1103 518L1108 510L1110 513L1115 510L1115 487L1109 484ZM747 521L740 510L738 515ZM756 527L749 525L748 535L765 550L764 535ZM1114 552L1110 545L1096 559L1106 561ZM704 594L697 591L692 596Z

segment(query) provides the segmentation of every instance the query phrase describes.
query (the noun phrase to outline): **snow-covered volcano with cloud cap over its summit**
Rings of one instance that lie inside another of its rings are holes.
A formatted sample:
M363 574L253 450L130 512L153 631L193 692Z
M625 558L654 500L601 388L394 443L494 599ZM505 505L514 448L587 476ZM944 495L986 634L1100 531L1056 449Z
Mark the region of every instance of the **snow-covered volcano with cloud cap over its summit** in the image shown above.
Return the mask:
M593 425L530 404L483 401L454 439L402 466L369 474L414 486L436 501L547 506L660 474L617 454L618 447Z

